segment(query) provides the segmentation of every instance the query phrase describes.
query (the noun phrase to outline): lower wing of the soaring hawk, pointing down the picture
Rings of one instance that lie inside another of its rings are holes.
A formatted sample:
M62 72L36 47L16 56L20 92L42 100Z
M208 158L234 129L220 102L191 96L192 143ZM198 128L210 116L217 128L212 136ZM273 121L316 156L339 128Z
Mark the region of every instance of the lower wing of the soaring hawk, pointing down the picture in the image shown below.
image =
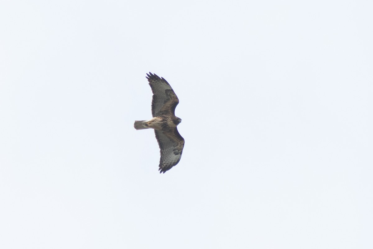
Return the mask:
M180 136L175 127L169 131L154 130L159 144L161 159L160 173L164 173L180 161L184 149L184 138Z

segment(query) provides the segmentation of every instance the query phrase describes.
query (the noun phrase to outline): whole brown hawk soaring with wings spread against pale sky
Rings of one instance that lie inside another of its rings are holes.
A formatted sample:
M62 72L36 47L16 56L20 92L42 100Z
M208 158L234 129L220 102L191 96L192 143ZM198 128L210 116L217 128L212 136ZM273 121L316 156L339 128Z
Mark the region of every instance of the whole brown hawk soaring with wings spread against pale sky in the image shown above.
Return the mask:
M136 130L153 128L160 148L159 171L164 173L180 161L184 148L184 138L176 126L181 118L175 116L179 99L170 84L162 77L149 72L146 77L153 91L151 102L152 119L135 121Z

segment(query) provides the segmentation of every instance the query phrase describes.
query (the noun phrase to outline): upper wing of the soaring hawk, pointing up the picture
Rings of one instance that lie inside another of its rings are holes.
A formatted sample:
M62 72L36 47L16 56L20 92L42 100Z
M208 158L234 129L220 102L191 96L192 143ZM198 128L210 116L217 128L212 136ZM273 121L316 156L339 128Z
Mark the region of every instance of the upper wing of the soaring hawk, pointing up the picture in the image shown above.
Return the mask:
M172 87L164 78L159 78L156 74L149 72L146 77L149 81L151 91L153 91L153 100L151 102L151 114L153 117L159 115L175 115L175 108L179 99Z

